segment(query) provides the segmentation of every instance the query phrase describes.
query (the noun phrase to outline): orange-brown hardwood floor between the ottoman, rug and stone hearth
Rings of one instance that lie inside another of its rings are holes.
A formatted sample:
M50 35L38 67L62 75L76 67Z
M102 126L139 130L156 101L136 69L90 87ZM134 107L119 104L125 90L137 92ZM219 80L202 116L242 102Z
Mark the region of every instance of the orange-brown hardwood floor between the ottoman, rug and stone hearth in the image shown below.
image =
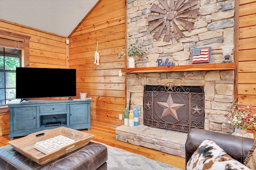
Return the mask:
M132 145L126 142L117 141L115 129L92 125L92 128L90 131L88 130L82 130L82 131L93 134L94 137L92 141L105 143L106 145L120 148L128 152L132 152L134 154L139 154L153 160L158 160L160 162L164 162L166 164L170 164L172 166L185 170L184 158L163 153L157 150ZM15 139L17 138L14 138L14 140ZM0 136L0 147L8 145L8 141L10 141L10 139L8 138L8 135Z

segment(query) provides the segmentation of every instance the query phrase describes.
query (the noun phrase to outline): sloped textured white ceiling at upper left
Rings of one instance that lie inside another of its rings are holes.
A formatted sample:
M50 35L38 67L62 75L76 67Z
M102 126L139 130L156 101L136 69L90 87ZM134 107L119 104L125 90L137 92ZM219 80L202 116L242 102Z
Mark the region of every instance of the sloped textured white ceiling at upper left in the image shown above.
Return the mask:
M68 37L98 0L0 0L0 19Z

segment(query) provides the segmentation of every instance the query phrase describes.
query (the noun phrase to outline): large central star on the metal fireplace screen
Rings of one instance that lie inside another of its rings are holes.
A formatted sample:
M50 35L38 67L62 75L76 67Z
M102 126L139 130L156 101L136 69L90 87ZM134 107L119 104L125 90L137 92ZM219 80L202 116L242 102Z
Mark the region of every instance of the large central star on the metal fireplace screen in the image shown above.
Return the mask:
M179 121L176 110L182 106L185 106L185 104L174 103L171 94L169 94L169 97L166 102L156 102L156 103L164 109L161 118L170 114L172 115L172 117L174 117L174 119Z

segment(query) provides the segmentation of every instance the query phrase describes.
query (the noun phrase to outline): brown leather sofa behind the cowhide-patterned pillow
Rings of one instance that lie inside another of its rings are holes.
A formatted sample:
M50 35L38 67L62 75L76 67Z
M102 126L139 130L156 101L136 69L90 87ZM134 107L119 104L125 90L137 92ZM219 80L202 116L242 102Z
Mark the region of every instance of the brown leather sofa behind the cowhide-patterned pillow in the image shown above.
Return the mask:
M254 143L254 139L194 128L189 131L185 145L186 164L204 140L214 141L228 155L241 163L244 162L246 155Z

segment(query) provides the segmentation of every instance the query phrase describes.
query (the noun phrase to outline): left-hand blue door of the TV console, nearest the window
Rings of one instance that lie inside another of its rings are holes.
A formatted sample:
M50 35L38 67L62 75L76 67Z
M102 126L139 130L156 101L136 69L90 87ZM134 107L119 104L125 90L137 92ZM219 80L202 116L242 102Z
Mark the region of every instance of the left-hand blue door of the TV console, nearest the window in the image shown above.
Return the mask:
M36 107L13 108L13 131L36 129Z

